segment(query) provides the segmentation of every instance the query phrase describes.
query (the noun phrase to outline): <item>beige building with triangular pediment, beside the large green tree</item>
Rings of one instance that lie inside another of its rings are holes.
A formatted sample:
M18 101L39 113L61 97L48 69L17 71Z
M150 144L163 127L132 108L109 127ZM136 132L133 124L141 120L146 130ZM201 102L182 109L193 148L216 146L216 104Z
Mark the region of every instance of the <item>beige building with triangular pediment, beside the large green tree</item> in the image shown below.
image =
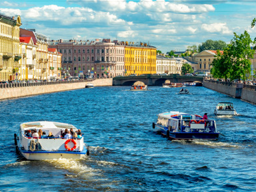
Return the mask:
M220 50L220 52L223 53L223 50ZM197 63L194 71L210 71L212 68L211 63L213 62L215 55L217 55L217 50L203 50L193 56L193 62Z

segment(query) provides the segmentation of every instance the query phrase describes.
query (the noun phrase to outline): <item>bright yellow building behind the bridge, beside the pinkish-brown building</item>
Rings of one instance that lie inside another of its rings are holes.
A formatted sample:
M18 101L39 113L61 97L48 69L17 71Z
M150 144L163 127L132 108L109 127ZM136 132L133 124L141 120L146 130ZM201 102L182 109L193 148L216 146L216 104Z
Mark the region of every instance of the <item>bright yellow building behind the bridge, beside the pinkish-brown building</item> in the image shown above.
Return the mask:
M140 43L125 42L125 76L130 74L155 74L157 48Z

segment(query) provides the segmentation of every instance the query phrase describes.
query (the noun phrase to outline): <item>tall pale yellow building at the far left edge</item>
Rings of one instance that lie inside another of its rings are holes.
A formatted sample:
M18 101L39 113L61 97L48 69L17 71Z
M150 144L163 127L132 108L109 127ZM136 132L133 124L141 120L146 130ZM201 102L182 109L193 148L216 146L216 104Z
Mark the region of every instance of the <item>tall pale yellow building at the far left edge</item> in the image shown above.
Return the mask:
M0 80L14 80L19 76L19 27L21 17L0 14Z

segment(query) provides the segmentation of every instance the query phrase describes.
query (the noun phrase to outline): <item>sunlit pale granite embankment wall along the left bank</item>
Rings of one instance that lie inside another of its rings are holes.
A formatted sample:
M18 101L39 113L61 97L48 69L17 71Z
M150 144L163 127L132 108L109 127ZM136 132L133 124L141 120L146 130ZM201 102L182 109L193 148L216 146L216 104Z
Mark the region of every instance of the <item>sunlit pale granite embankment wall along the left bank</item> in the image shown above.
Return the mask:
M19 86L13 88L0 88L0 100L33 96L38 94L48 94L52 92L62 92L85 88L86 84L93 83L94 86L112 86L112 78L95 79L89 82L69 82L60 84L45 84L35 86Z

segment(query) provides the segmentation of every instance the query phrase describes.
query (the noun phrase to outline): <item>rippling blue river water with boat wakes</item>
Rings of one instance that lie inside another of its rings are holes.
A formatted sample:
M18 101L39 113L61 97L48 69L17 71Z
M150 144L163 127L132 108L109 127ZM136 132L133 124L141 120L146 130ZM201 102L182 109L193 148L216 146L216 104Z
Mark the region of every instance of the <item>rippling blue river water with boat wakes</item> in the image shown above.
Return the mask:
M0 191L256 191L256 106L204 87L96 87L0 102ZM218 102L239 116L217 117ZM157 114L216 120L217 141L171 141L155 134ZM26 161L15 153L19 124L48 120L85 134L90 156Z

